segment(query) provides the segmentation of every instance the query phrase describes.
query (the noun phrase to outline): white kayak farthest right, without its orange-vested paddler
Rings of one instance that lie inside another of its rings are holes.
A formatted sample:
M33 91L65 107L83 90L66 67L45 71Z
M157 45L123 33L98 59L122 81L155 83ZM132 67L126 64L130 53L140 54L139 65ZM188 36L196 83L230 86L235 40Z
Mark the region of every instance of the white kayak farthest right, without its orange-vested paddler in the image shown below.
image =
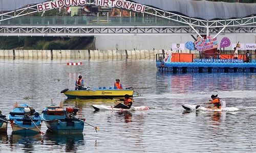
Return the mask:
M239 110L237 107L226 107L226 108L221 108L221 109L210 109L210 108L200 106L196 109L197 105L182 104L181 106L187 111L233 112L233 111L238 111Z

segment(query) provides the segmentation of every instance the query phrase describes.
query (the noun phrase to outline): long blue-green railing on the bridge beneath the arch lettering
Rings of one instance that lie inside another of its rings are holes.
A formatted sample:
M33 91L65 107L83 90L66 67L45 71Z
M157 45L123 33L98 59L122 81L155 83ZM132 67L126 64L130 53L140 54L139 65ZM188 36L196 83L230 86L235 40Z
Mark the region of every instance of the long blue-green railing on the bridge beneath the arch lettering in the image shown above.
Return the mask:
M184 25L160 17L23 16L0 25Z

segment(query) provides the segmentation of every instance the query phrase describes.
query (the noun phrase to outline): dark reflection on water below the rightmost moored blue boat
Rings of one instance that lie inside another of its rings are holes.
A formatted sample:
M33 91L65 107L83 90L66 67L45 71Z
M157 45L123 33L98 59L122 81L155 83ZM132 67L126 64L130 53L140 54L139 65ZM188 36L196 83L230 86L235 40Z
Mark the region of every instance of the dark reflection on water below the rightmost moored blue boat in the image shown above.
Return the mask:
M63 146L65 145L65 151L77 151L80 145L85 145L83 134L55 134L47 130L45 141L50 141L49 145L55 144ZM47 144L48 145L48 144Z

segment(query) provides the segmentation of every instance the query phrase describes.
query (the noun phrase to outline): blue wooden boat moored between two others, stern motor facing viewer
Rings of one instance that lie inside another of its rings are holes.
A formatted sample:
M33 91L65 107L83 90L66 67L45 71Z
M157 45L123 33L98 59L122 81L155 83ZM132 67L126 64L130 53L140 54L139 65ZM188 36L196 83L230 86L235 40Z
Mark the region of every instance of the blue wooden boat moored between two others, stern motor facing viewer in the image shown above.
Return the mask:
M41 116L28 104L18 106L16 102L8 117L13 133L38 133L41 129Z

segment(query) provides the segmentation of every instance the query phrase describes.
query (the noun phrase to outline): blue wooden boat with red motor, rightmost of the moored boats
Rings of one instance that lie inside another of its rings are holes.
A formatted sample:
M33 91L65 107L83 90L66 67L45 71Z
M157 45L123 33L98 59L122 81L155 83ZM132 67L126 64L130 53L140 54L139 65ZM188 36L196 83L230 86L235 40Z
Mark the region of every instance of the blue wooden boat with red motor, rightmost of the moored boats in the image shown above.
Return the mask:
M59 106L51 104L42 111L42 119L46 122L48 129L56 133L82 133L84 119L75 117L77 108L63 109L63 104Z

